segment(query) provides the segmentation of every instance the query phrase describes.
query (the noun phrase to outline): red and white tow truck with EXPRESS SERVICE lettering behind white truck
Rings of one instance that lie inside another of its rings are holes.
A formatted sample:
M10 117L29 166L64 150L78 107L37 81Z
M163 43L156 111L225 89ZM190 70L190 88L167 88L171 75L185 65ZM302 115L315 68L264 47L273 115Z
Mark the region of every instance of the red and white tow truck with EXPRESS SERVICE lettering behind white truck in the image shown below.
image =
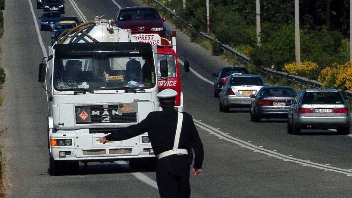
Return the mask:
M181 90L180 64L177 56L176 31L172 31L169 39L162 38L157 34L134 34L139 42L157 45L157 66L158 66L158 90L171 88L177 91L175 109L183 112L183 93ZM161 78L160 61L168 62L168 77ZM189 72L189 63L184 61L184 71Z

